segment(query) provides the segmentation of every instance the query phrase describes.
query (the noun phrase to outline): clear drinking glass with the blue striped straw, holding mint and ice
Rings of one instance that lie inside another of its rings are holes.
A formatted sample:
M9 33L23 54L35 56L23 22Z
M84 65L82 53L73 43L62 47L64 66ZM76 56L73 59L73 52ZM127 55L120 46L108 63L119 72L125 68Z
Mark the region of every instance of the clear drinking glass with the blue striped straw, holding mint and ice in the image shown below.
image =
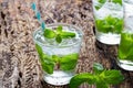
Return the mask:
M43 59L40 58L40 63L44 73L44 80L55 86L69 84L74 76L83 37L81 29L71 24L55 23L49 24L47 28L55 29L58 25L62 25L65 31L74 32L75 37L63 38L59 44L54 38L45 38L41 29L33 33L35 46L43 52L39 55L43 57Z

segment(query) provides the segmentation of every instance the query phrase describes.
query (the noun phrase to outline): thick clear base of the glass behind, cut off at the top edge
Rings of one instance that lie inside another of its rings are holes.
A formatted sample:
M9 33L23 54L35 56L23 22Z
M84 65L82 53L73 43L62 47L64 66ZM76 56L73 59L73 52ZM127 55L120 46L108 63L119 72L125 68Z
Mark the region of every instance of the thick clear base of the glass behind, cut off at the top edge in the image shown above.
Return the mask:
M121 38L120 34L96 32L96 40L104 44L109 45L120 44L120 38Z

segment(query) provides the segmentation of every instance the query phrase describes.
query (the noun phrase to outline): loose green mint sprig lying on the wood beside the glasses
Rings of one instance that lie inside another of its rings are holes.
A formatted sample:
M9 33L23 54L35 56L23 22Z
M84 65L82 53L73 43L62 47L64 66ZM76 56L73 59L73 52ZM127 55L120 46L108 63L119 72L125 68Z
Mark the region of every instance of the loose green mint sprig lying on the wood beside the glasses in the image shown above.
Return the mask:
M120 70L106 70L99 63L93 65L93 74L82 73L75 75L70 81L70 88L78 88L83 82L95 85L96 88L110 88L110 85L117 85L124 79Z

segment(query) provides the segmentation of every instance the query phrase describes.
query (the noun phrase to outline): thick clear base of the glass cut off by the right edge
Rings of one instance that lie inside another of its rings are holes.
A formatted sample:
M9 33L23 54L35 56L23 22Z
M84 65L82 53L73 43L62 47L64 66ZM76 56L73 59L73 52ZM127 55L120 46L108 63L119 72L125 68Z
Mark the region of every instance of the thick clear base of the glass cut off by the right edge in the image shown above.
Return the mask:
M133 62L119 59L119 61L117 61L117 65L119 65L121 68L125 69L125 70L131 70L131 72L133 72Z

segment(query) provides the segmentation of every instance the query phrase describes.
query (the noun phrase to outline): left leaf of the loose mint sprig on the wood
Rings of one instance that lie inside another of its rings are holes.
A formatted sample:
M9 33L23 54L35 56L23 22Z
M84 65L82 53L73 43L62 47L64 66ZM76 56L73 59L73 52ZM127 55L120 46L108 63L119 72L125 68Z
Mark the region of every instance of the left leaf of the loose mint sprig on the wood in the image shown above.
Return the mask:
M70 88L78 88L81 84L83 82L89 82L90 85L94 84L94 77L92 74L89 73L83 73L75 75L71 80L70 80Z

